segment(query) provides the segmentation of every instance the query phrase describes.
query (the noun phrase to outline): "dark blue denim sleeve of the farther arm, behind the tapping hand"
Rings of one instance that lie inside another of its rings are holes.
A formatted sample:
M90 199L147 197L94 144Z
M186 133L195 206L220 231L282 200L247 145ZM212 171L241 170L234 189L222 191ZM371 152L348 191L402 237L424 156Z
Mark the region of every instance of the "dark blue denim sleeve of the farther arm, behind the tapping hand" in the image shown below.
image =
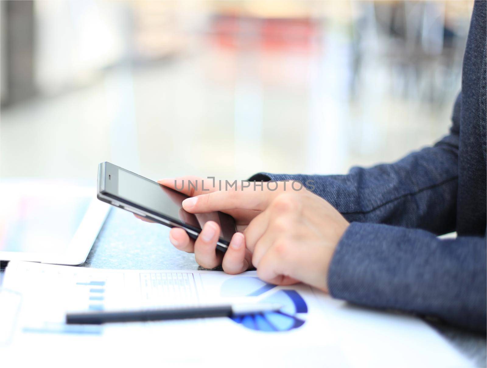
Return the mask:
M250 180L299 180L348 221L421 228L435 234L454 231L460 101L459 95L450 135L394 164L353 167L347 175L260 173Z

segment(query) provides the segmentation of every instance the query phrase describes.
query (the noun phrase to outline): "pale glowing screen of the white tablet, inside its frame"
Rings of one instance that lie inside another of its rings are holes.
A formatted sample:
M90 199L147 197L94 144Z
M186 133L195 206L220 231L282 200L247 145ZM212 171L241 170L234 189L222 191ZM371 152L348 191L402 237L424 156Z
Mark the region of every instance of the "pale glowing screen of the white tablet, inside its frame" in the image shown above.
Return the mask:
M63 253L93 198L92 190L52 181L0 188L0 251L7 252Z

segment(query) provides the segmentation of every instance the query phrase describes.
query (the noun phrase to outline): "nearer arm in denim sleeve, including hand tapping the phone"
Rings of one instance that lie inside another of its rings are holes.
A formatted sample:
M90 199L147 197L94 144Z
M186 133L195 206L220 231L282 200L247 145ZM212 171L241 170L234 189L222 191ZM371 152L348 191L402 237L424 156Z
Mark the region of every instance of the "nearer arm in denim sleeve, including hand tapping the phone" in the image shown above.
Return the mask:
M266 282L302 281L357 304L485 331L485 238L440 240L420 229L349 224L310 191L279 184L277 191L216 191L183 206L191 213L259 211L243 233L251 263Z

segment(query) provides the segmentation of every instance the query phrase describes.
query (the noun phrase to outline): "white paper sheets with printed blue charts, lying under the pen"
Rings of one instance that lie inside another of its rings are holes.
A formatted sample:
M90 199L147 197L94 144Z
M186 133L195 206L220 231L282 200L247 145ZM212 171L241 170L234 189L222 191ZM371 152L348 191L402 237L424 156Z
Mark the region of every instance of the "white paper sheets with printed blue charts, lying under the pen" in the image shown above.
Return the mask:
M282 309L235 318L64 323L67 311L259 302L278 303ZM11 359L18 365L48 359L50 366L471 366L419 319L350 307L302 284L267 284L255 272L11 262L0 312L2 362Z

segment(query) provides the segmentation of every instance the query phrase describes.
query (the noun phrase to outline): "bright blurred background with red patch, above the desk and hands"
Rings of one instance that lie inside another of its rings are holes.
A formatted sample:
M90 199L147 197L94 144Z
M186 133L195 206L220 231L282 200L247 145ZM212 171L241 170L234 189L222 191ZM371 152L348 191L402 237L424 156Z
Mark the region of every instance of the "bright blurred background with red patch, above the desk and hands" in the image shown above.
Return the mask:
M0 177L345 173L448 133L473 1L1 1Z

